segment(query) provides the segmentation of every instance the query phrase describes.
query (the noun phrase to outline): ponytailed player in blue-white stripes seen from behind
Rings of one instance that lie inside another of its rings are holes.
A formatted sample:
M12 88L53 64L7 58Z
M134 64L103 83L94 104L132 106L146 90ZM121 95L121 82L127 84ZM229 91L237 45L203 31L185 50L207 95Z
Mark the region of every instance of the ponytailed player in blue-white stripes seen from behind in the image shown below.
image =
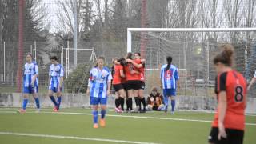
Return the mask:
M161 78L161 87L163 89L164 103L165 103L165 112L168 109L168 99L170 97L171 101L171 114L174 114L175 108L175 96L176 96L176 87L179 85L178 77L178 68L171 64L173 58L168 56L166 58L167 64L163 65L160 72Z

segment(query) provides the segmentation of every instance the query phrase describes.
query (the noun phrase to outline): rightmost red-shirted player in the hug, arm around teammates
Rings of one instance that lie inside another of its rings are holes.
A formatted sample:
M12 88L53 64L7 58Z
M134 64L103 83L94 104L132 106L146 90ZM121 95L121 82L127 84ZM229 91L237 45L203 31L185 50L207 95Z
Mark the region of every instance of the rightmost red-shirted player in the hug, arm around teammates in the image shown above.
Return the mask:
M139 105L139 111L142 113L146 112L146 99L144 98L144 89L145 89L145 61L142 61L141 54L140 53L134 53L134 60L127 59L127 62L131 62L133 66L135 66L138 69L139 77L139 89L138 89L138 105ZM136 99L135 99L136 102ZM141 108L141 102L143 104L143 110Z

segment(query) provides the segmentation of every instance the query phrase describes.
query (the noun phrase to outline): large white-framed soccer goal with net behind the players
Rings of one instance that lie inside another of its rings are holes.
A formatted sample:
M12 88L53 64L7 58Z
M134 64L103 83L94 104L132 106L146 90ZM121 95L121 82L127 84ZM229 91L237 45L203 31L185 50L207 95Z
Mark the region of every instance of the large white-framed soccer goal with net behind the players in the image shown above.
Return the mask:
M140 52L146 59L147 92L151 86L159 86L159 69L170 55L179 69L179 95L214 95L216 72L212 59L223 43L234 46L234 68L249 80L256 70L256 28L127 29L127 52Z

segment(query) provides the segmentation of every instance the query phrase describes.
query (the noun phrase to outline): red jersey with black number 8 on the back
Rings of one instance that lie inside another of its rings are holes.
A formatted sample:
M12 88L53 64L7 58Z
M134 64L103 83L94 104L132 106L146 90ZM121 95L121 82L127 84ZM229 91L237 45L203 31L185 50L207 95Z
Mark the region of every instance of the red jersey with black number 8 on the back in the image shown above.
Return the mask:
M225 128L244 130L246 109L246 79L235 70L218 74L215 82L217 99L221 91L226 91ZM218 108L214 117L213 127L218 127Z

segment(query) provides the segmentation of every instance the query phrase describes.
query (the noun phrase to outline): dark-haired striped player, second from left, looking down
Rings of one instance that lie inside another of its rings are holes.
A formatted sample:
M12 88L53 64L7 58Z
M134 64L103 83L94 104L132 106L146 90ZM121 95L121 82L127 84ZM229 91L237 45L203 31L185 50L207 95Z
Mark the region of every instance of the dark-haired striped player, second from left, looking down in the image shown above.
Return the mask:
M56 56L50 57L49 69L49 90L48 96L50 100L54 103L54 112L58 112L59 107L62 102L62 86L63 86L63 76L64 70L61 64L57 62L58 58ZM54 98L54 93L57 95L57 102Z

